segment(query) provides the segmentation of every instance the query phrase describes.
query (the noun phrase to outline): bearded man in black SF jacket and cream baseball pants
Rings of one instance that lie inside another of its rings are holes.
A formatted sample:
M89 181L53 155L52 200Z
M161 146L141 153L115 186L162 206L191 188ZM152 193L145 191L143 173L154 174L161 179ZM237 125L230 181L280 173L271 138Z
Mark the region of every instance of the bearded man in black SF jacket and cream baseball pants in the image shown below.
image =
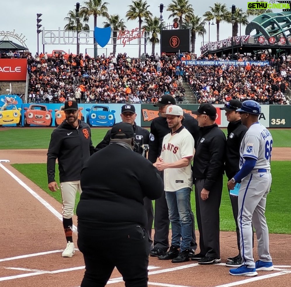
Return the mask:
M78 120L78 110L76 101L65 102L66 119L53 130L47 153L48 188L52 192L59 189L55 181L56 159L59 165L63 227L67 240L62 257L72 257L75 253L72 232L75 198L77 191L82 192L81 169L94 153L90 127Z

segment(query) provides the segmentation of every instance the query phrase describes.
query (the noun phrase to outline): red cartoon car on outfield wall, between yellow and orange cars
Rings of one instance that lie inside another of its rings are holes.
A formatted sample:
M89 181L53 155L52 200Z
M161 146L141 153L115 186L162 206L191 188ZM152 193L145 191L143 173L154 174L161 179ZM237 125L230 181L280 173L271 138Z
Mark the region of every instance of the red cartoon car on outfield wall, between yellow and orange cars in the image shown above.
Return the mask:
M48 110L45 105L31 104L29 108L25 107L24 125L42 125L51 126L53 123L52 111Z

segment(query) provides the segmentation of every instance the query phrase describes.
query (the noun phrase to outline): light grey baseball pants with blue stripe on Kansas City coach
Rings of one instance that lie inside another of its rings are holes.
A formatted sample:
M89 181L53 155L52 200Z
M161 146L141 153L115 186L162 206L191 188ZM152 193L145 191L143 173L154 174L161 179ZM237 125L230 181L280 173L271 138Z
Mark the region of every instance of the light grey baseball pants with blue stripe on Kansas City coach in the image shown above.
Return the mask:
M243 178L238 192L242 264L249 268L255 268L252 254L252 224L257 235L259 260L272 261L269 252L269 229L265 217L266 198L271 181L271 173L250 173Z

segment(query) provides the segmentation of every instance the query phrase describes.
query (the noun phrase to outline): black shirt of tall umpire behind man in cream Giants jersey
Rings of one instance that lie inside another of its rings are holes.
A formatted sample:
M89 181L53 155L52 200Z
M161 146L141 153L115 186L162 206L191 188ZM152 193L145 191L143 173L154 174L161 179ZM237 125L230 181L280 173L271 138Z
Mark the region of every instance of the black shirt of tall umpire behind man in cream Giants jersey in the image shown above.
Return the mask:
M190 132L195 141L195 148L199 138L198 122L195 118L184 113L182 125ZM154 163L161 155L163 138L171 129L168 126L167 118L154 118L151 122L151 134L149 136L149 156L148 159Z

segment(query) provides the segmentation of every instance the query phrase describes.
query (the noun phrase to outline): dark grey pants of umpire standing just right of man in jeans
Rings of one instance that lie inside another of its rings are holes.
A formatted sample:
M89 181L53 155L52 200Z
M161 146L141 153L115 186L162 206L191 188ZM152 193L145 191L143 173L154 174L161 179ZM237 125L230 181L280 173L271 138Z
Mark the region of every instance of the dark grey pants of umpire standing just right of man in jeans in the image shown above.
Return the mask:
M200 253L212 258L220 258L219 245L219 207L221 202L223 177L217 178L215 186L210 190L208 199L202 200L201 191L204 179L196 179L195 201L196 219L199 229Z

